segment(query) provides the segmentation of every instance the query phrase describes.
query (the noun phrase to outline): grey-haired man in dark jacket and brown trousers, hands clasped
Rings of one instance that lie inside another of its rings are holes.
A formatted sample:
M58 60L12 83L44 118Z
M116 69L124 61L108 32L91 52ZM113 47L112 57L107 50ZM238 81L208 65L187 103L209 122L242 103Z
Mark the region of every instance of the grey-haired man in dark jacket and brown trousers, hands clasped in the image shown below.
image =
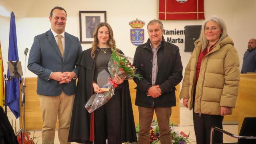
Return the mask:
M182 80L182 62L178 46L164 41L160 20L148 23L148 42L137 47L134 55L137 84L135 104L139 109L139 144L150 144L150 125L154 111L160 129L161 144L171 144L169 120L176 106L175 86Z

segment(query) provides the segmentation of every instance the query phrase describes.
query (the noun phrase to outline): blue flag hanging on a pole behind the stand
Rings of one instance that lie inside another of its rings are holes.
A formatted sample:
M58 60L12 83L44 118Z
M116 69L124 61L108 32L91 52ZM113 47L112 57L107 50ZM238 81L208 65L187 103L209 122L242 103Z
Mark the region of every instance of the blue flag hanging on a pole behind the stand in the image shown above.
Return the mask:
M16 37L16 24L14 13L11 13L10 20L10 35L9 35L9 51L8 61L19 60L17 37ZM10 76L8 69L7 76ZM21 80L21 79L20 79ZM12 113L16 118L20 117L20 81L19 78L12 78L6 84L6 102Z

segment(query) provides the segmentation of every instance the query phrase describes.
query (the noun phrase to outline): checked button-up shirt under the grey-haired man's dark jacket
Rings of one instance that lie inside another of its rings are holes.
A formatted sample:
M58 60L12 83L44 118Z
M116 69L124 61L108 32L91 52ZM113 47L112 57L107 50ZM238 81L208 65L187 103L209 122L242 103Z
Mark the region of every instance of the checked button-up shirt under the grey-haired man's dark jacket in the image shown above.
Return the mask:
M160 44L154 48L150 42L150 46L153 52L153 60L152 60L152 86L156 84L156 76L158 71L158 64L157 64L157 51L159 50Z

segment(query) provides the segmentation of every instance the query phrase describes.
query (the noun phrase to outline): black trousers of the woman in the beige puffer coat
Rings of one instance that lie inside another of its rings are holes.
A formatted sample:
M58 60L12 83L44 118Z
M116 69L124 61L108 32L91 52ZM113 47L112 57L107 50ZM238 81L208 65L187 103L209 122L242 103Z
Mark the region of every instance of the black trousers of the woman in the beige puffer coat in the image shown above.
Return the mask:
M196 134L196 144L210 144L211 128L216 126L222 128L223 116L210 115L210 114L199 114L194 112L193 108L193 120L194 120L194 130ZM223 142L223 134L218 131L214 131L213 137L214 143Z

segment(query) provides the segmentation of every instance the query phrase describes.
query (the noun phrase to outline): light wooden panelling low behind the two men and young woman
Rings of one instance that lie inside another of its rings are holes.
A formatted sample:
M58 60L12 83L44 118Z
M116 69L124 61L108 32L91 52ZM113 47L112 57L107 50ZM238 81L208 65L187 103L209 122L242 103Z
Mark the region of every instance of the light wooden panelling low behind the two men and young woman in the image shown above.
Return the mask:
M22 82L23 84L23 82ZM20 88L22 88L22 84ZM25 80L25 96L26 96L26 103L25 103L25 117L26 117L26 130L36 130L42 129L42 111L40 108L40 102L38 98L38 94L36 93L37 88L37 78L26 78ZM134 113L134 120L135 125L139 122L139 113L138 113L138 106L135 106L135 98L136 98L136 90L134 89L136 84L133 80L129 80L130 85L130 93L131 93L131 100L132 100L132 109ZM172 107L172 115L170 120L175 124L180 124L180 84L176 86L176 107ZM20 96L22 93L20 92ZM23 108L23 107L22 107ZM22 116L23 116L23 109L21 108L21 118L20 124L22 123ZM154 114L154 118L156 115ZM56 124L56 128L58 128L58 120Z

